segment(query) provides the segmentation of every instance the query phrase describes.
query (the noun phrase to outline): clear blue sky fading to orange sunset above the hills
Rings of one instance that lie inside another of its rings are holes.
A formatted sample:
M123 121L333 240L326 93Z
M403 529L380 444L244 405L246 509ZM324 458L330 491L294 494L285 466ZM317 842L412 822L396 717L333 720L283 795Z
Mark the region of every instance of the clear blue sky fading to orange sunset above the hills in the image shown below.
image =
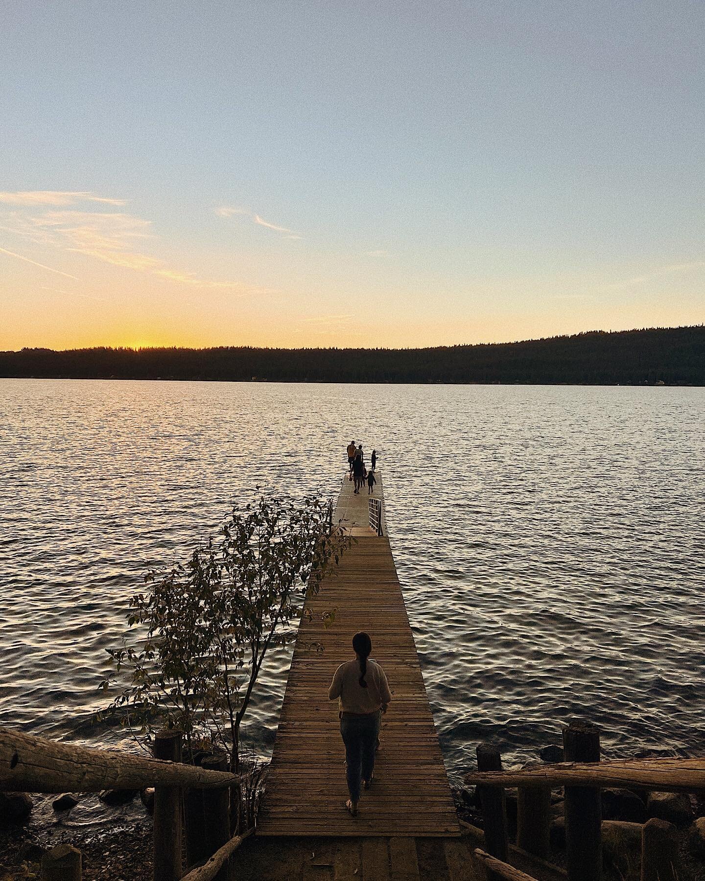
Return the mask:
M700 0L0 20L0 349L705 322Z

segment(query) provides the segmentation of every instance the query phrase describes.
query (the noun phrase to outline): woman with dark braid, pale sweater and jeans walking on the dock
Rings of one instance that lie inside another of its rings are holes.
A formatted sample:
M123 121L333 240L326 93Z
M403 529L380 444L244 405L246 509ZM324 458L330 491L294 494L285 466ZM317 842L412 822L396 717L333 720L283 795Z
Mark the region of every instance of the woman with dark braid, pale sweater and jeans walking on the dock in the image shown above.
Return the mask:
M375 749L382 713L391 700L384 670L369 657L372 640L367 633L353 636L355 659L342 663L330 683L328 697L338 699L340 734L345 744L347 788L345 808L357 817L360 788L368 789L375 776Z

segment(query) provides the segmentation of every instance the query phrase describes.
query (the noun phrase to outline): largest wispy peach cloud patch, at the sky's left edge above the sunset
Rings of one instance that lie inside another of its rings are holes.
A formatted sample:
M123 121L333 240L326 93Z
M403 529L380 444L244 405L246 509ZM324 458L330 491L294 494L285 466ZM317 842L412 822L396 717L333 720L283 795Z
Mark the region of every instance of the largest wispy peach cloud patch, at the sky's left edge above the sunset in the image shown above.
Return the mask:
M168 266L160 257L145 253L145 243L157 239L152 231L151 220L138 218L125 211L85 211L65 207L81 203L104 203L106 207L122 207L126 204L123 199L108 199L93 196L91 193L43 190L30 194L3 193L0 196L2 196L0 202L11 204L15 208L4 217L0 229L26 241L33 241L43 247L56 248L60 251L82 254L102 263L167 278L195 288L242 294L263 292L263 288L243 285L240 282L200 278L196 273ZM28 196L32 198L27 198ZM44 210L33 210L38 207ZM61 210L56 210L57 208ZM53 270L23 255L7 253L28 263L35 263L43 269L75 278L67 272Z

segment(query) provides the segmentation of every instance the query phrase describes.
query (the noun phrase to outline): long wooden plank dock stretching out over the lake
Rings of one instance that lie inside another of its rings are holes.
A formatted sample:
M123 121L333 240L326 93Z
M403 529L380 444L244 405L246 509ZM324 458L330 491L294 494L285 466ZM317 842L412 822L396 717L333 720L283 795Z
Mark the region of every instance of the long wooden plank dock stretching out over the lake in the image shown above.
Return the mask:
M382 478L375 473L380 497ZM354 495L346 476L335 517L353 529L355 544L311 603L315 612L335 611L333 623L324 627L320 615L301 621L256 833L459 835L389 539L367 525L367 486ZM352 639L359 630L372 637L372 657L387 674L392 701L382 716L375 781L363 791L353 819L344 807L338 701L328 700L328 688L338 664L354 657ZM311 648L316 642L323 645L320 654Z

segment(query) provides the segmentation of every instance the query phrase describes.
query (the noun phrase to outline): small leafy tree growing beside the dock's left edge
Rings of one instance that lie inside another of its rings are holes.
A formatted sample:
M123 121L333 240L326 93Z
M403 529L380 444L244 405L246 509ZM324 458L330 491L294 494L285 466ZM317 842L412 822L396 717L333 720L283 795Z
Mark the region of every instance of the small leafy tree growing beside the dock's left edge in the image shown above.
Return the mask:
M261 495L234 507L217 542L199 545L185 566L147 574L145 593L130 599L128 623L143 640L108 650L129 677L108 712L124 710L146 737L157 724L178 726L190 760L204 742L220 745L239 773L241 724L264 658L293 639L307 598L351 541L317 497L297 505Z

